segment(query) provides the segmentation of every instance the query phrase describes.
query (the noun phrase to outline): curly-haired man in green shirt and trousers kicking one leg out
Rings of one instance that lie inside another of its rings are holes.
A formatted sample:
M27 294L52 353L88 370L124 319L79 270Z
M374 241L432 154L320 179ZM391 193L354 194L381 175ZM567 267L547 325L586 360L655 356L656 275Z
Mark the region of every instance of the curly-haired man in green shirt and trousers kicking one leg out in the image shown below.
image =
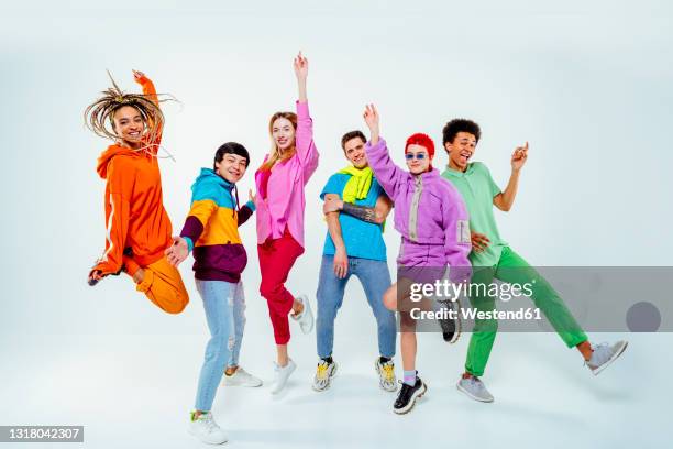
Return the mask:
M503 240L493 215L493 207L509 211L517 195L521 168L528 158L528 142L518 146L511 155L511 175L505 190L493 180L486 165L470 162L482 135L479 125L471 120L454 119L443 129L443 144L449 155L449 166L442 176L452 183L463 196L470 213L473 251L472 283L489 285L494 278L505 283L530 283L530 295L536 307L547 317L569 348L577 348L585 364L596 375L616 360L626 349L626 341L592 346L565 306L563 299L523 258ZM496 297L488 288L474 288L470 298L478 310L494 310ZM492 317L487 317L492 318ZM497 319L475 318L467 349L465 372L456 387L475 401L493 402L493 395L479 379L484 374L498 329Z

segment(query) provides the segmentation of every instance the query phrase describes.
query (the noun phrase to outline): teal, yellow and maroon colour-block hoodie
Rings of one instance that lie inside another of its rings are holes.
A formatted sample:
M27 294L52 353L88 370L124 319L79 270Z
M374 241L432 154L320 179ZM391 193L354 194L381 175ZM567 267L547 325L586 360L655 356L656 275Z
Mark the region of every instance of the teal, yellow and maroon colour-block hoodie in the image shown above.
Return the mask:
M239 209L234 189L212 168L201 168L191 186L191 209L180 237L194 250L197 280L239 282L247 264L239 227L253 215L255 205L247 201Z

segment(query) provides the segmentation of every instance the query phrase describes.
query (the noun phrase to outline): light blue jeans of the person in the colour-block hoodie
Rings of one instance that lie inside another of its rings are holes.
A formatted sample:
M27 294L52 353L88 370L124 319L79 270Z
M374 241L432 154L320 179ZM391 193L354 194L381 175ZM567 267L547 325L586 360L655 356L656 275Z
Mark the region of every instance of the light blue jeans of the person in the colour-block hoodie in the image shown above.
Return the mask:
M245 296L241 282L196 280L196 285L203 299L210 340L206 346L195 408L210 412L225 364L239 364L245 328Z

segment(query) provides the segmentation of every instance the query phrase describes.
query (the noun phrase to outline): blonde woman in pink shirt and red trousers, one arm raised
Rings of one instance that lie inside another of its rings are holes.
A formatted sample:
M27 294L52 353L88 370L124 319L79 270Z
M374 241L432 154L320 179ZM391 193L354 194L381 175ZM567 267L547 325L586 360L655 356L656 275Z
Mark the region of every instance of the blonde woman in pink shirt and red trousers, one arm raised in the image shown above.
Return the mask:
M304 253L304 189L318 167L313 121L306 96L308 59L299 53L294 66L299 88L297 113L276 112L272 116L268 127L272 151L255 173L257 254L262 274L260 293L268 306L277 352L273 394L283 390L296 369L287 351L290 339L288 315L291 313L304 333L313 328L308 297L295 296L285 287L293 265Z

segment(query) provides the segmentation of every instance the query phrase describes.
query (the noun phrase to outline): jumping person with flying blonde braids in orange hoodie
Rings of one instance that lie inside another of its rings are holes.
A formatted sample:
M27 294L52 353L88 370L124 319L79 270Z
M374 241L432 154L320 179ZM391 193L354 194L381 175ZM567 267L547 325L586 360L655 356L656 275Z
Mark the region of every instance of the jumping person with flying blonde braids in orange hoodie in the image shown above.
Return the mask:
M106 251L88 281L96 285L124 271L152 303L179 314L189 296L179 272L164 256L173 243L157 162L164 114L150 78L136 70L133 77L143 94L123 92L112 80L85 111L89 129L114 141L98 158L97 172L106 180Z

